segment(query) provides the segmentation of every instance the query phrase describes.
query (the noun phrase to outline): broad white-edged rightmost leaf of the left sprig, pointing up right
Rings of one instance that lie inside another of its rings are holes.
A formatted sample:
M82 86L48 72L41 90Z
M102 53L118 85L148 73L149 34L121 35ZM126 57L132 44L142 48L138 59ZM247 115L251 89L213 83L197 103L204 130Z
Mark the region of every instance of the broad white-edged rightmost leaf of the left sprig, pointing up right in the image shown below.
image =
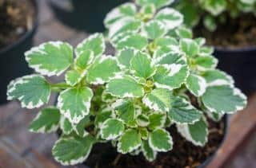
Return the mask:
M86 80L90 84L105 84L118 74L120 74L120 68L116 58L103 55L98 57L94 64L90 66L86 74Z

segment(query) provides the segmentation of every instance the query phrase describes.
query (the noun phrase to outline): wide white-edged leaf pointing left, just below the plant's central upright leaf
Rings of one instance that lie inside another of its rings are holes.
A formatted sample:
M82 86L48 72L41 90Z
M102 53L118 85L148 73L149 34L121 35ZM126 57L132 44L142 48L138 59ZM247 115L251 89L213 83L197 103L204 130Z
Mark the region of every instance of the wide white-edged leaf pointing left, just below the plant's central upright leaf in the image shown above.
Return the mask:
M120 98L142 97L144 90L132 76L120 76L106 84L106 92Z

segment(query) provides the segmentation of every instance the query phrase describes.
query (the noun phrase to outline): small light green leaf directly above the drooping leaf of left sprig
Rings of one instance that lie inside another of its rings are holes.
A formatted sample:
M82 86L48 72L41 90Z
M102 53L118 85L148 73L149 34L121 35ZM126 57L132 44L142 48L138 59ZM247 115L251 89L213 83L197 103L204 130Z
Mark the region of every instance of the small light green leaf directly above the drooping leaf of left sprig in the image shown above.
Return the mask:
M66 84L70 84L70 86L74 86L78 84L82 80L83 74L76 70L70 70L65 74Z

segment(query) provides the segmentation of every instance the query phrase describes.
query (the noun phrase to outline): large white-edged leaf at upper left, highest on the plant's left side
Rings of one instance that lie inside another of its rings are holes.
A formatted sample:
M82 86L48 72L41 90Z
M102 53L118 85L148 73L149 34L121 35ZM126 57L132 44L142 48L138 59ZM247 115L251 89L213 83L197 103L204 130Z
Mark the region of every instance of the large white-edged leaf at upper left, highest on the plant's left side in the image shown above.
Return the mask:
M46 76L59 76L72 64L73 48L68 43L50 41L30 49L25 56L35 72Z

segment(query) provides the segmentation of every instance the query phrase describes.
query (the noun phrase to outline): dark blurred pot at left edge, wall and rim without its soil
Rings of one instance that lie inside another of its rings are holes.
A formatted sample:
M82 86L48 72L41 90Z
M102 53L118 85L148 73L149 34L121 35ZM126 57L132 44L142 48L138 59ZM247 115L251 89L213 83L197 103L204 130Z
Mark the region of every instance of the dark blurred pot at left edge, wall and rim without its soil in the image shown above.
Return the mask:
M33 37L38 28L38 2L31 0L34 4L36 16L34 18L33 29L27 31L15 43L0 49L0 104L6 103L6 86L10 80L19 76L30 74L32 70L28 68L24 53L33 46Z

